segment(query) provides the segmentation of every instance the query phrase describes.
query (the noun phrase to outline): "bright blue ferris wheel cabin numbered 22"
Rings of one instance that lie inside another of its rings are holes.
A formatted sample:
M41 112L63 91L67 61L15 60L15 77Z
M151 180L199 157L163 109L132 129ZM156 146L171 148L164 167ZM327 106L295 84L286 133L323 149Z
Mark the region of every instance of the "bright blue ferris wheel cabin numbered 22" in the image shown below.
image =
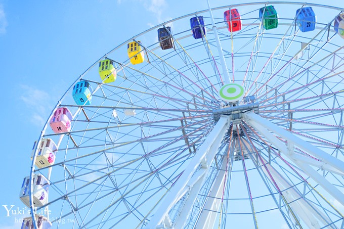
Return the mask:
M313 31L317 17L312 7L305 7L296 10L296 24L302 32Z

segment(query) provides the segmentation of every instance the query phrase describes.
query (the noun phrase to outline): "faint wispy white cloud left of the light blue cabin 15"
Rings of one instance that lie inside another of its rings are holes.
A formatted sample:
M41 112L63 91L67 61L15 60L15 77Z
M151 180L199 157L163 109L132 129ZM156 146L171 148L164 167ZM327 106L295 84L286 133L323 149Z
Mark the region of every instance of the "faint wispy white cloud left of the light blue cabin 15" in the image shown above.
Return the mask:
M42 127L54 108L56 100L44 90L39 90L28 85L21 85L20 87L22 88L21 91L24 92L24 94L20 96L20 100L23 101L27 107L30 121Z

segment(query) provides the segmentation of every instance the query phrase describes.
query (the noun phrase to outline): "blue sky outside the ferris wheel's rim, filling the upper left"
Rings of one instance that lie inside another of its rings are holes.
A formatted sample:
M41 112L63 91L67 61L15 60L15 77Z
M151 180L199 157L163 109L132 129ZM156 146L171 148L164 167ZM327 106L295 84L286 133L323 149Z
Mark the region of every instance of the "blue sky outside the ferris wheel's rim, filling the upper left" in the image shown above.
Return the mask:
M211 6L243 2L251 1L211 1ZM342 0L330 2L344 7ZM1 205L23 208L18 193L30 171L33 142L76 77L124 40L206 7L204 0L0 0ZM0 227L16 228L15 216L5 217L0 209Z

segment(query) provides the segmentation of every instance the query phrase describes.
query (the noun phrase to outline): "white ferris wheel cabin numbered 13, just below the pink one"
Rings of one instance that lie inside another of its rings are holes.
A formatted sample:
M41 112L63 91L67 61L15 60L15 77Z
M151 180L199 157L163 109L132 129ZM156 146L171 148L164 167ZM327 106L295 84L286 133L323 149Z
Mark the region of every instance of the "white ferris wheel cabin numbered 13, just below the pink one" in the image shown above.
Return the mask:
M33 153L36 148L37 141L34 142L32 147L31 160L33 158ZM42 139L40 141L40 146L38 147L36 155L36 166L38 168L44 168L46 166L52 165L55 162L57 152L57 146L51 139Z

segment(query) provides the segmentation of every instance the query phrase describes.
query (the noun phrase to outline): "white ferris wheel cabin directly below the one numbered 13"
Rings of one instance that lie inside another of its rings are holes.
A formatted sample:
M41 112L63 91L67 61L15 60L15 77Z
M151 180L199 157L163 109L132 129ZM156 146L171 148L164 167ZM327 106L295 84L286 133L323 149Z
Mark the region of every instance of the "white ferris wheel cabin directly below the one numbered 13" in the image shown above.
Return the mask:
M28 207L30 207L30 176L27 176L23 180L23 184L20 190L20 200ZM33 185L33 206L41 207L48 203L48 192L50 183L44 175L33 174L32 176L32 185Z

